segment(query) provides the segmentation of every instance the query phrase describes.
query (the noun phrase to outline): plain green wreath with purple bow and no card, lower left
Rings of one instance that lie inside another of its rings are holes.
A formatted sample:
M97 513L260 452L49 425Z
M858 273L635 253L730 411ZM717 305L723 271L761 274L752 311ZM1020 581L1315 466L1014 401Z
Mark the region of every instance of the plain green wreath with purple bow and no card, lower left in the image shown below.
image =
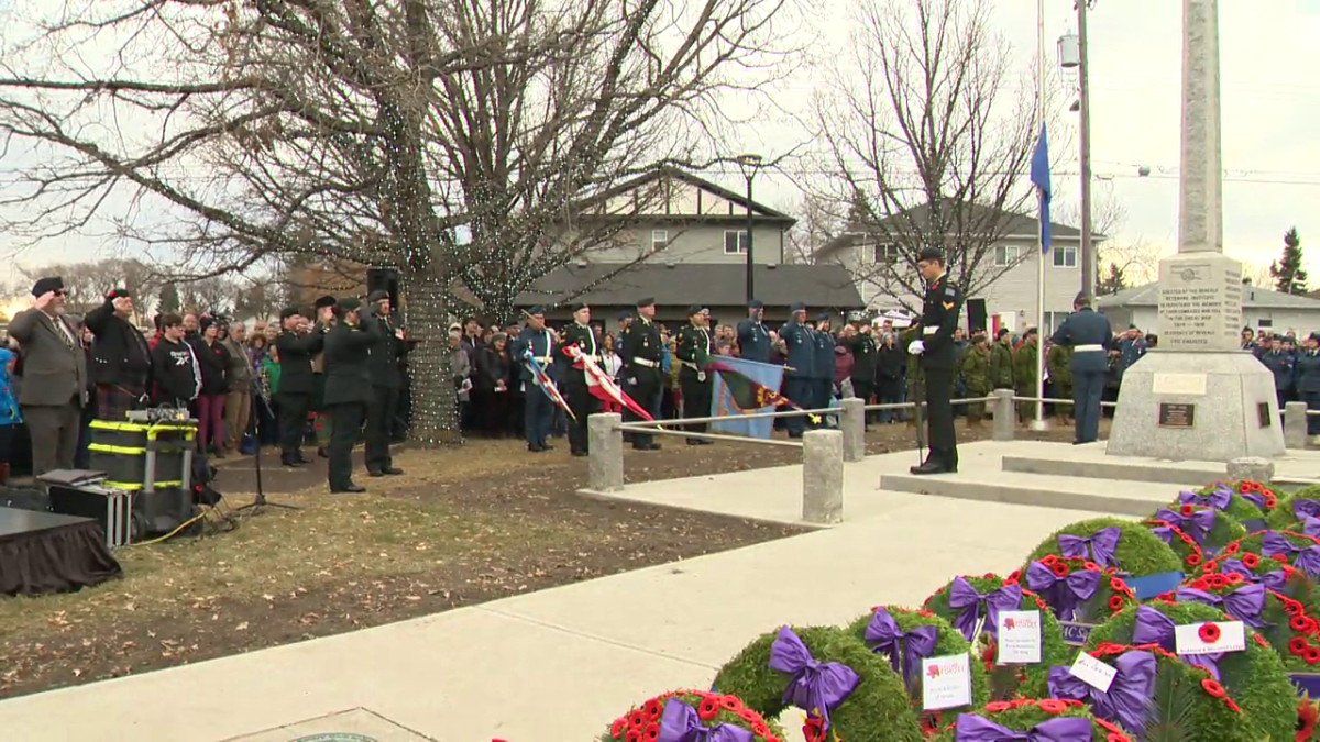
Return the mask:
M888 660L838 627L792 628L808 651L821 663L840 663L861 681L837 708L829 712L830 729L847 742L921 742L921 724L907 702L903 680ZM789 676L771 669L771 646L779 630L759 636L729 660L715 676L715 688L743 700L747 708L766 718L776 718L788 706L784 691ZM804 709L810 712L812 709Z

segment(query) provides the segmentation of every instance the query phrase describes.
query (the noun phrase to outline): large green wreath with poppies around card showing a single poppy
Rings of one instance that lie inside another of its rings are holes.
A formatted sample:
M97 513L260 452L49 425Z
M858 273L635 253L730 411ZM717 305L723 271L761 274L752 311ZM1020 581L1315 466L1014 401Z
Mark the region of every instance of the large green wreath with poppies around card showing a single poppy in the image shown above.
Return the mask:
M1175 626L1232 621L1224 611L1201 603L1167 603L1156 599L1147 606L1164 614ZM1092 655L1100 651L1109 658L1133 648L1133 628L1140 607L1127 609L1098 626L1092 631L1085 648ZM1279 654L1250 627L1246 627L1246 651L1225 652L1217 660L1220 672L1217 681L1205 669L1170 654L1171 643L1166 647L1143 644L1138 648L1159 655L1159 677L1156 677L1152 708L1168 710L1179 705L1179 698L1184 696L1189 698L1188 726L1195 725L1193 729L1184 730L1195 731L1189 738L1222 742L1292 738L1298 718L1296 692ZM1203 692L1187 693L1188 687L1193 684ZM1039 691L1035 694L1044 694L1045 689L1043 687L1031 691ZM1226 704L1226 700L1232 701L1232 705ZM1152 712L1155 713L1166 712ZM1140 730L1133 731L1140 733Z

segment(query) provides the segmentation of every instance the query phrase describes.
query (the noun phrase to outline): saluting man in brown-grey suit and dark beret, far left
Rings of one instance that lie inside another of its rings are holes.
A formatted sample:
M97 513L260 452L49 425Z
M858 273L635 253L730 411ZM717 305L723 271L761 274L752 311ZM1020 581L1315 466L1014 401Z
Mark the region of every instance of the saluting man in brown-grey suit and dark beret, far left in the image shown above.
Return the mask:
M18 342L22 384L18 405L32 436L32 473L73 469L87 404L87 359L78 329L65 318L69 292L59 276L32 287L32 309L15 314L9 337Z

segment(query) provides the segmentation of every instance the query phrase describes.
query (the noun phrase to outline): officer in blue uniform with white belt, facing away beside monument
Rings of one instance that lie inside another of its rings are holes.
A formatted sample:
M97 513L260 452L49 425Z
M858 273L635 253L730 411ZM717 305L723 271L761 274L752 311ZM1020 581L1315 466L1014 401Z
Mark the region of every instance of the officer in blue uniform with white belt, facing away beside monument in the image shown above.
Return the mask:
M1090 308L1085 293L1073 300L1073 313L1049 338L1072 349L1068 370L1073 382L1073 445L1100 438L1100 400L1109 374L1109 351L1117 350L1109 320Z

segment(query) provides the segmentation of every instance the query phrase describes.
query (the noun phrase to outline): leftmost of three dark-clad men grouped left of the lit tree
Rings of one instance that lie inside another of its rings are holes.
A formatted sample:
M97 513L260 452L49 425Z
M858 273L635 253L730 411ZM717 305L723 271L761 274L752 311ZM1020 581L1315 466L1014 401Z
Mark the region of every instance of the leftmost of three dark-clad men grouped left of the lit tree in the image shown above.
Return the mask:
M302 466L310 463L302 457L302 437L315 388L312 356L321 353L325 329L313 327L296 306L280 312L280 326L282 331L275 338L280 351L280 387L275 393L280 405L280 463Z

